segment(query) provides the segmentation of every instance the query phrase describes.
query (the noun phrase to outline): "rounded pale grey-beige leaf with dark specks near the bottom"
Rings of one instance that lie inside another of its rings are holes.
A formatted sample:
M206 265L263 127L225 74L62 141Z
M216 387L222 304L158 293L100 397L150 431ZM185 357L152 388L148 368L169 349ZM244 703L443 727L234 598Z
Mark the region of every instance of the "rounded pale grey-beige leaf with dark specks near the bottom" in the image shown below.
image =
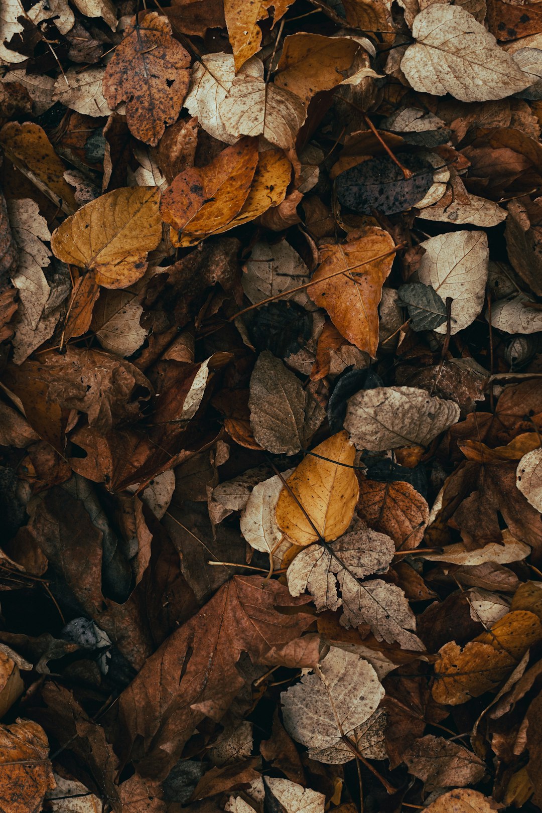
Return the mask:
M334 646L314 672L282 693L284 728L308 748L310 759L349 762L354 754L343 737L355 741L384 698L384 687L371 663Z

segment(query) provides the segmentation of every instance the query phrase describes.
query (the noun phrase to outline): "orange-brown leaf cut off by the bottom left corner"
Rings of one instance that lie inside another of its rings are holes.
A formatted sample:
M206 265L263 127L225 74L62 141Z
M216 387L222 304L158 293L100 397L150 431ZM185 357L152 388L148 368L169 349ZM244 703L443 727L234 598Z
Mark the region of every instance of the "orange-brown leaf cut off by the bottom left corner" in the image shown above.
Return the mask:
M0 726L2 813L38 813L47 790L55 786L49 742L41 725L17 720Z

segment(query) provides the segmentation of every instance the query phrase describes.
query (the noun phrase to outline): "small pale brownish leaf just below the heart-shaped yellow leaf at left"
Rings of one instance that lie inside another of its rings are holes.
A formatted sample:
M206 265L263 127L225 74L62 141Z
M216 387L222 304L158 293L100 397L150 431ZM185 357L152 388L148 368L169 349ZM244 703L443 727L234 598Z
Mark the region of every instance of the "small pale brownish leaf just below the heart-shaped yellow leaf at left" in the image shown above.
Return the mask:
M104 350L129 356L141 347L148 333L139 324L142 313L136 293L105 290L94 306L90 328Z

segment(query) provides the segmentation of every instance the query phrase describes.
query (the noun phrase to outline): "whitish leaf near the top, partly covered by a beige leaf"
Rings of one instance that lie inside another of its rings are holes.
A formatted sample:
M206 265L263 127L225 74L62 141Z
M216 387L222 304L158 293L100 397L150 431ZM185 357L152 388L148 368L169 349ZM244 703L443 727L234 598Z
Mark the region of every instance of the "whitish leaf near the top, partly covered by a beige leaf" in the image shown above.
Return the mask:
M235 78L262 76L262 63L259 59L249 59L235 72L233 54L205 54L202 61L193 67L189 93L184 99L184 107L190 115L197 115L200 126L213 138L234 144L236 136L228 132L219 114L220 103L228 96Z

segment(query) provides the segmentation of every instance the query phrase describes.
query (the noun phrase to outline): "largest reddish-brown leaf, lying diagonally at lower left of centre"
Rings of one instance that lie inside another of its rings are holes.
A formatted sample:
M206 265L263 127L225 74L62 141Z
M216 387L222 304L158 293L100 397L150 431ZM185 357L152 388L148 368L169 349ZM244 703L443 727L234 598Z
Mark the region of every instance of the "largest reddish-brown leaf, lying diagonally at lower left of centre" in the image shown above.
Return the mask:
M197 724L205 716L220 720L244 684L236 670L241 652L257 663L270 646L301 635L311 617L280 607L305 603L276 581L234 576L147 660L119 698L124 752L132 751L141 776L165 776Z

